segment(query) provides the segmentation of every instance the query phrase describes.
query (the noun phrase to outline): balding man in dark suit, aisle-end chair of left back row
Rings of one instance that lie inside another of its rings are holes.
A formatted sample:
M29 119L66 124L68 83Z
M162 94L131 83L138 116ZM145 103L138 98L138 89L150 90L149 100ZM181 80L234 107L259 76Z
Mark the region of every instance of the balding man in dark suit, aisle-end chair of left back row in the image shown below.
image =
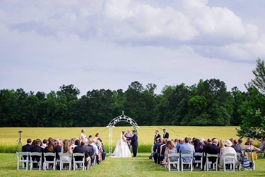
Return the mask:
M73 153L84 153L85 154L85 166L87 167L87 170L90 166L90 162L91 162L91 151L87 151L87 149L85 148L86 142L82 141L81 145L78 145L74 148ZM74 160L76 161L81 161L83 159L83 156L75 156ZM77 163L77 167L80 168L80 163Z

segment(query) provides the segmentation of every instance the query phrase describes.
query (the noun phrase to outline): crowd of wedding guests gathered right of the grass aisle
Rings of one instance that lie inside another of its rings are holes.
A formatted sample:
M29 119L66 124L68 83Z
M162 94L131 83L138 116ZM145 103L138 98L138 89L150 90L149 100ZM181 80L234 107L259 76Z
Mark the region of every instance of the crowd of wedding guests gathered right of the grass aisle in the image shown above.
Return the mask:
M165 129L164 129L165 130ZM165 135L165 131L164 131ZM193 166L198 168L202 165L202 170L204 170L204 165L206 163L206 156L207 154L215 154L219 155L218 157L218 164L221 168L223 168L223 160L224 158L227 160L231 160L235 157L235 165L238 165L238 158L236 153L241 153L241 150L248 149L251 152L260 152L265 149L265 141L264 137L261 137L261 143L260 147L256 148L254 147L254 140L253 139L247 139L247 142L245 144L242 144L242 139L234 139L230 138L229 140L223 140L221 139L218 141L216 138L208 138L208 140L205 140L203 137L200 139L198 138L189 138L185 137L180 139L168 139L167 138L161 138L161 136L158 134L158 130L155 131L155 139L153 144L153 151L151 156L149 156L150 159L153 158L154 162L159 165L168 165L168 154L172 153L179 153L180 158L181 154L193 154ZM203 153L203 163L197 164L195 163L195 160L201 160L201 156L195 156L195 153ZM224 154L232 153L234 154L234 157L232 156L226 156L224 157ZM177 156L171 156L169 157L170 161L178 161ZM210 162L215 163L217 157L209 157L208 160ZM191 157L183 157L183 162L191 162ZM188 167L188 165L186 165ZM175 168L172 164L170 164L170 168Z

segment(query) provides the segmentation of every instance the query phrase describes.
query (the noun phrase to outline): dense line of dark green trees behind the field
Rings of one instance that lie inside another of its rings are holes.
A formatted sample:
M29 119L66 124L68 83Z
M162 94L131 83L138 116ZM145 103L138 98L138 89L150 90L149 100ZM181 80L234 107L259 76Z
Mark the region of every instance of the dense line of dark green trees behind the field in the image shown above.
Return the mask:
M264 66L259 58L257 62ZM155 84L135 81L126 91L93 89L80 98L80 90L72 84L48 94L1 89L0 127L102 127L122 111L140 126L240 125L253 115L264 117L264 92L255 82L260 81L252 80L244 92L237 87L228 91L219 79L201 79L191 86L166 85L155 94Z

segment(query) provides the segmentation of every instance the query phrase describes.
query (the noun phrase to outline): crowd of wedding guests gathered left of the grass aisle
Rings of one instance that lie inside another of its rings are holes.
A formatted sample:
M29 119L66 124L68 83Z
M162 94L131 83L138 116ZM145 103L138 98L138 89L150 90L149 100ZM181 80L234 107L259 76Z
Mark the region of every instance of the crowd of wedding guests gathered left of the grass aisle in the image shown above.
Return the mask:
M43 153L55 153L56 159L59 160L59 153L84 153L85 154L85 166L87 169L90 167L90 163L94 163L96 159L96 163L100 164L102 160L105 160L106 150L100 139L100 134L97 133L95 137L92 139L92 135L88 138L85 136L85 129L81 130L81 134L79 138L72 139L59 139L59 138L48 138L44 140L36 139L36 140L27 140L27 144L22 146L22 152L37 152L42 153L42 162L44 162L44 154ZM63 155L61 156L62 161L70 161L70 156ZM76 156L75 160L82 160L83 157ZM24 157L26 159L26 156ZM40 156L32 156L32 160L40 161ZM53 156L46 156L47 161L53 161ZM38 164L33 163L33 168L37 168ZM80 168L80 164L77 164L77 167ZM53 164L49 164L49 168L56 168ZM63 168L73 168L69 167L69 163L64 163Z

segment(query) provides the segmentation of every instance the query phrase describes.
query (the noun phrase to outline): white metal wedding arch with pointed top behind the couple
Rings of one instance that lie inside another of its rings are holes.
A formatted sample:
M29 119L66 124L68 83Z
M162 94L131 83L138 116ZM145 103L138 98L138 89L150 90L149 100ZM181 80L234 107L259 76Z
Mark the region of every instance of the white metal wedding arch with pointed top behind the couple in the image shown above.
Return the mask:
M139 128L138 124L132 118L125 116L123 111L121 116L112 119L112 121L110 121L109 125L107 126L107 128L109 128L109 155L112 154L112 128L115 127L114 125L116 123L121 121L130 123L132 125L132 128Z

